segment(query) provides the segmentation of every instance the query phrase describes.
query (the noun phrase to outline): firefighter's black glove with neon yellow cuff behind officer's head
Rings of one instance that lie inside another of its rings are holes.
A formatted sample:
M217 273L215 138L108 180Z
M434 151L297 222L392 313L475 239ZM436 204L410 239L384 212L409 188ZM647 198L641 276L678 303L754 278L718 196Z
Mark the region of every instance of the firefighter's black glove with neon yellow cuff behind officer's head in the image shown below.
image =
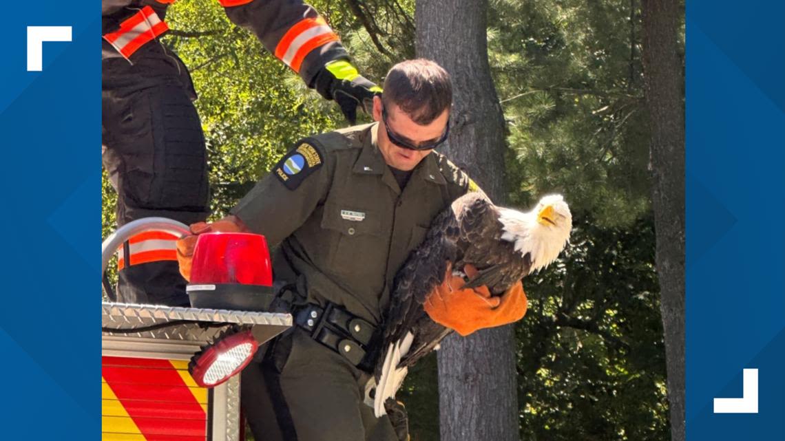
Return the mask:
M335 60L325 64L316 74L314 86L322 97L335 100L352 124L357 121L357 107L371 115L374 95L382 93L381 87L357 73L357 68L348 60Z

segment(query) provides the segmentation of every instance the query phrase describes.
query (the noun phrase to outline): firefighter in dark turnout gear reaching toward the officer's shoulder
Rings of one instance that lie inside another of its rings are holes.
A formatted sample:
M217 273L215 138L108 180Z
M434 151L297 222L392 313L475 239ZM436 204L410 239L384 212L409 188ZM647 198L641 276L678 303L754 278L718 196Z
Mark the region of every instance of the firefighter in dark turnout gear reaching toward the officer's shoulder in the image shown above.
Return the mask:
M206 148L188 68L160 42L174 0L102 2L102 162L118 193L117 221L209 213ZM360 76L338 35L301 0L218 0L350 122L381 89ZM146 231L118 250L119 301L188 305L175 240Z

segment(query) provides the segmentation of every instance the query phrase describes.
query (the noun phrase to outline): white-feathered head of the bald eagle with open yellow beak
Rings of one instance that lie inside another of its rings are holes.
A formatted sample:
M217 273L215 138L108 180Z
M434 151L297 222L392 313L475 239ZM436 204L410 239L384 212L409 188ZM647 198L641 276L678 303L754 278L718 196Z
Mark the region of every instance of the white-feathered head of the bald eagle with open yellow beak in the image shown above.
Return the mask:
M572 215L561 195L547 195L534 210L521 213L499 207L502 240L513 242L522 255L531 253L531 270L545 268L555 261L570 239Z

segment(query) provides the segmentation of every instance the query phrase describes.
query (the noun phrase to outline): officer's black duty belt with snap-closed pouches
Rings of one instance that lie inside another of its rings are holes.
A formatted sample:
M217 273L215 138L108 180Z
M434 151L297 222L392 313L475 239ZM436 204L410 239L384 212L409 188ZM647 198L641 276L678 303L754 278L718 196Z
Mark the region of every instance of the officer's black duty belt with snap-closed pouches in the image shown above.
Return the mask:
M367 357L374 342L376 328L340 306L327 303L327 308L306 304L294 309L294 323L311 338L343 355L360 370L371 372L372 360Z

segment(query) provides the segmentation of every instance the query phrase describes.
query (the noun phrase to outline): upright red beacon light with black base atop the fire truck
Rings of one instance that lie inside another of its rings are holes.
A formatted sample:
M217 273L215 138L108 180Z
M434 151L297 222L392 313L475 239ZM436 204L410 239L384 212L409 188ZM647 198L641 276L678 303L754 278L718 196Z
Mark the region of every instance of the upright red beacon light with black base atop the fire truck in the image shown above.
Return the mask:
M265 236L221 232L199 235L186 290L194 308L266 311L273 296Z

